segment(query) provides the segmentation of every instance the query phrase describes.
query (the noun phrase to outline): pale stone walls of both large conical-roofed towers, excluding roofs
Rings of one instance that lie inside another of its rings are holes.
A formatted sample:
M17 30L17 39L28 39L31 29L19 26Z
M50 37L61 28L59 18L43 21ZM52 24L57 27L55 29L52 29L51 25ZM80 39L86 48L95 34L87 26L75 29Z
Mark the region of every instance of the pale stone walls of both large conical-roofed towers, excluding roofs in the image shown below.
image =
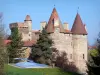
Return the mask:
M86 72L87 35L72 35L54 32L50 34L54 41L53 47L66 52L70 62L74 62L80 72Z

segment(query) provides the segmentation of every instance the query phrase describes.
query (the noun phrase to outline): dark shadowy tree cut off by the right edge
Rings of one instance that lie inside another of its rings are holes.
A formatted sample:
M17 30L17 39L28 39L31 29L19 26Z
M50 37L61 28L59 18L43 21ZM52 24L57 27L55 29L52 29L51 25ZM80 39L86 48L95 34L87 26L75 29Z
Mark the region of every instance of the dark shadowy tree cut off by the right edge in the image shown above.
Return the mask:
M97 39L97 54L89 55L88 66L88 75L100 75L100 33Z

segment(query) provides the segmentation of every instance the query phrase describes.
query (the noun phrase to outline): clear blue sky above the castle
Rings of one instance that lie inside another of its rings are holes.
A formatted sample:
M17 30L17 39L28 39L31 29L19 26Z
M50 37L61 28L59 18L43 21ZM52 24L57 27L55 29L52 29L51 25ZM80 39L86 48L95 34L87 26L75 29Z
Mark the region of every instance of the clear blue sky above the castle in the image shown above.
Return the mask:
M0 12L3 13L7 34L10 34L9 24L24 22L26 15L32 19L32 29L39 30L40 22L48 22L54 5L60 20L67 22L69 29L78 12L86 24L88 43L95 43L100 32L100 0L0 0Z

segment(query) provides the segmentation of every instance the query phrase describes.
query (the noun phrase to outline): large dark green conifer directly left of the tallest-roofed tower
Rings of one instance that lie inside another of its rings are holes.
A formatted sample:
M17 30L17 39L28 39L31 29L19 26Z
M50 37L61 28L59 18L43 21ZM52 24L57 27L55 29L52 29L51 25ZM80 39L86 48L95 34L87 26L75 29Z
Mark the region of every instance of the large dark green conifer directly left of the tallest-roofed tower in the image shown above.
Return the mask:
M36 45L32 47L32 58L39 63L50 64L52 57L52 44L49 34L45 29L39 34Z

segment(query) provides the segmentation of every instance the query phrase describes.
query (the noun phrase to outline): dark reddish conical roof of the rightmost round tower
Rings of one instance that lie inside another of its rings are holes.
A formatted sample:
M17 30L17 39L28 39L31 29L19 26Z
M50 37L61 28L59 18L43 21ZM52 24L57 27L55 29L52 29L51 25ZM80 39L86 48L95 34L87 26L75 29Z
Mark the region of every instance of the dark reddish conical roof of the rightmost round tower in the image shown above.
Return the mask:
M85 34L85 35L87 35L85 26L83 25L81 17L78 13L77 13L76 18L74 20L71 32L73 34L80 34L80 35Z

